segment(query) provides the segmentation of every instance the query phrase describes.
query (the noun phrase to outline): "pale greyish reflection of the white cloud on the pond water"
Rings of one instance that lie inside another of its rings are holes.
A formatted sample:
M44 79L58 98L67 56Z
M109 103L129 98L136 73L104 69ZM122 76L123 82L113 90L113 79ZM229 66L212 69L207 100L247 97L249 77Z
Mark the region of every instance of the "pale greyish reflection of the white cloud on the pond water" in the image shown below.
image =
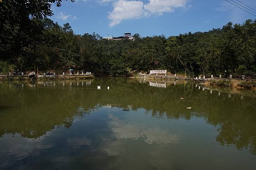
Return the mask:
M163 146L177 144L180 137L176 134L169 134L167 130L159 127L148 128L137 123L125 123L113 115L109 127L113 131L116 139L143 139L148 144L160 144Z

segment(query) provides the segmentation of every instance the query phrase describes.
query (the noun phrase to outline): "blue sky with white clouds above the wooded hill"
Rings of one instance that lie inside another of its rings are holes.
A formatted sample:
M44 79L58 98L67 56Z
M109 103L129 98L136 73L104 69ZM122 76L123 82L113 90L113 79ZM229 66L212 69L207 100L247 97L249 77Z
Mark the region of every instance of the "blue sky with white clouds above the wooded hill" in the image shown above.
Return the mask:
M256 9L255 0L240 1ZM52 10L50 18L60 25L70 23L76 34L102 37L124 32L169 37L256 19L226 0L76 0L64 1L60 8L53 4Z

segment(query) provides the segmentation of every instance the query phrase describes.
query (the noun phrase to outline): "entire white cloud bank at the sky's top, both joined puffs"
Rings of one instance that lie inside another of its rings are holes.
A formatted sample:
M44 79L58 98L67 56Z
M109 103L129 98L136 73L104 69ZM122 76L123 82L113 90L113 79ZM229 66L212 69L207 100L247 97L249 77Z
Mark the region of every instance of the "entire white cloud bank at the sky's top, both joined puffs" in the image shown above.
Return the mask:
M112 0L102 0L110 2ZM150 14L162 15L164 12L173 12L175 8L186 7L189 0L148 0L144 4L138 0L117 0L113 3L113 11L108 15L111 20L109 26L113 27L122 20L136 19Z

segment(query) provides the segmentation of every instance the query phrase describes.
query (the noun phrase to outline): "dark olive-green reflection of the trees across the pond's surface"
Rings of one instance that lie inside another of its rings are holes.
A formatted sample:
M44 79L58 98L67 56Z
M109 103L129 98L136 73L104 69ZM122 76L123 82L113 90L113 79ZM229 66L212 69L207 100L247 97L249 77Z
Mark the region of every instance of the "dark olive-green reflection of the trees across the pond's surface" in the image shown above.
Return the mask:
M228 94L221 93L218 96L216 91L210 94L189 82L185 87L181 82L166 88L150 87L149 82L125 78L95 79L90 86L82 86L81 82L71 84L68 81L64 86L63 82L55 82L55 86L41 84L38 90L37 84L33 88L25 84L23 89L3 85L1 96L6 100L0 101L0 106L6 109L0 114L0 136L20 133L37 138L55 126L70 127L74 119L83 118L91 109L115 106L124 111L143 108L145 114L157 119L201 117L218 127L216 140L221 144L235 144L238 149L250 147L251 152L256 153L256 105L250 97L241 100L239 95L229 98ZM96 90L97 85L102 85L101 91ZM15 103L15 106L6 103ZM186 110L186 107L192 109Z

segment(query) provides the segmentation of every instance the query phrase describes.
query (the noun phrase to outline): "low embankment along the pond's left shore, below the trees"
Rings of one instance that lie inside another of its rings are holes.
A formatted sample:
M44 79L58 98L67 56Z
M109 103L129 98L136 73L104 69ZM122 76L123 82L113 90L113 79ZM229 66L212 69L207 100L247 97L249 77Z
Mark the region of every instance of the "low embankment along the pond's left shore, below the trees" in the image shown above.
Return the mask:
M34 77L29 77L27 75L23 76L7 76L7 75L0 75L0 80L12 81L12 80L64 80L64 79L72 79L72 80L79 80L79 79L93 79L93 75L35 75Z

